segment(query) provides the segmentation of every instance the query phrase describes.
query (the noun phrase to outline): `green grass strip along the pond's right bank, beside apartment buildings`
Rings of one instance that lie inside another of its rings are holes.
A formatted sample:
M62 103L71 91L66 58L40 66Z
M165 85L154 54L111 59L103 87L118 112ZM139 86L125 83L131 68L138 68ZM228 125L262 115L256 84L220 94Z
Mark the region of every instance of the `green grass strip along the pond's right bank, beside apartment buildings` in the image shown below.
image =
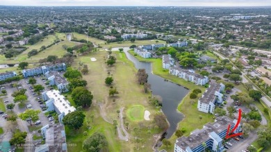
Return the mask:
M132 55L134 55L133 51L129 51ZM182 78L178 78L177 76L172 76L171 74L168 73L168 70L163 69L163 64L162 64L162 59L158 58L150 58L150 59L145 59L141 58L140 56L135 56L138 60L140 61L145 61L145 62L151 62L152 63L152 71L154 74L161 76L163 78L166 78L167 80L170 80L174 83L177 83L179 85L185 86L190 90L194 90L196 88L199 88L202 90L202 92L205 92L206 88L202 86L195 85L194 83L185 81ZM190 94L190 93L189 93ZM188 136L190 135L190 132L192 130L195 130L196 128L202 128L204 124L208 122L214 121L212 119L213 115L211 114L206 114L204 112L199 112L197 110L197 100L199 99L202 94L197 95L197 99L194 99L194 104L190 102L191 99L189 97L189 94L183 98L181 103L178 106L178 110L185 115L182 121L179 122L178 129L185 128L186 133L184 135ZM199 119L199 115L202 116L202 119ZM165 149L167 151L174 151L174 142L176 141L176 136L172 135L170 138L170 142L172 143L172 146L161 146L161 149Z

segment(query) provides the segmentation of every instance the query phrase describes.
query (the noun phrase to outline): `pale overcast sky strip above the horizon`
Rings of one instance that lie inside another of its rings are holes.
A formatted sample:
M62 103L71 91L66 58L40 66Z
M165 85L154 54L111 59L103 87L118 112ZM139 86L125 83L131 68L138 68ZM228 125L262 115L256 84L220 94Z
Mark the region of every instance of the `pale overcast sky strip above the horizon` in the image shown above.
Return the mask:
M271 0L0 0L3 6L271 6Z

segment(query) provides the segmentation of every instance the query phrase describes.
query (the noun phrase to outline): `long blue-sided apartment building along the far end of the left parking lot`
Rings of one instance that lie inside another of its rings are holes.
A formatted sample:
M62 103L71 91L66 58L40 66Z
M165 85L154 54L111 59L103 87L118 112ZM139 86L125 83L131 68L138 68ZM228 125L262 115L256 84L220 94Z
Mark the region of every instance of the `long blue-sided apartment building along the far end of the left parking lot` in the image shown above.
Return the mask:
M39 76L47 72L47 71L66 71L67 67L65 63L60 63L56 65L46 65L42 67L37 67L33 69L24 69L22 70L22 74L24 78L28 78L31 76Z

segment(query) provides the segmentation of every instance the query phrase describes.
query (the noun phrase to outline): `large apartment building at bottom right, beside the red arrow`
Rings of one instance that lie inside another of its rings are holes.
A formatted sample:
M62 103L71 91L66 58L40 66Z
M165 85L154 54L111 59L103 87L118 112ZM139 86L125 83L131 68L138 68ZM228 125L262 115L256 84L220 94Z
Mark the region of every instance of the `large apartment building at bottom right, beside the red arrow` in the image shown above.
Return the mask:
M229 117L217 117L215 122L208 123L202 129L193 130L188 137L180 137L174 144L174 152L202 152L204 149L213 152L224 151L222 144L226 137L227 128L233 129L236 126L236 119L232 120ZM240 133L240 124L233 133ZM202 143L205 143L206 146Z

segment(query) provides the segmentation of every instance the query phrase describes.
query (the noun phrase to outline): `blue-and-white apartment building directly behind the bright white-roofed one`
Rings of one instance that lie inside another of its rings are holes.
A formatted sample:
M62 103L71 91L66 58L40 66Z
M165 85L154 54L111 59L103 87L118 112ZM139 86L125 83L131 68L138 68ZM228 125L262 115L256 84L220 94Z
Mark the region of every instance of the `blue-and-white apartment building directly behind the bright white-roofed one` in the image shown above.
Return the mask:
M69 91L69 82L58 71L47 71L45 73L49 85L56 85L60 92Z

